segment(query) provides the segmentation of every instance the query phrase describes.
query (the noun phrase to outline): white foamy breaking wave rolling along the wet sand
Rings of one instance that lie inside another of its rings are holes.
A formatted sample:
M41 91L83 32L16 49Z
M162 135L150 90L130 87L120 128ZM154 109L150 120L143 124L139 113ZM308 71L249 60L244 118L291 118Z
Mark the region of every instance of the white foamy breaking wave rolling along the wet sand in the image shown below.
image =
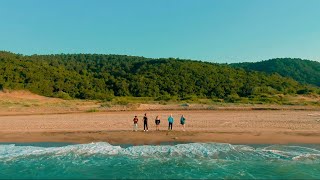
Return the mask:
M76 144L63 147L0 145L0 160L30 156L128 156L159 158L207 158L221 160L320 160L320 151L302 146L272 145L254 148L227 143L189 143L177 145L143 145L122 148L105 142Z

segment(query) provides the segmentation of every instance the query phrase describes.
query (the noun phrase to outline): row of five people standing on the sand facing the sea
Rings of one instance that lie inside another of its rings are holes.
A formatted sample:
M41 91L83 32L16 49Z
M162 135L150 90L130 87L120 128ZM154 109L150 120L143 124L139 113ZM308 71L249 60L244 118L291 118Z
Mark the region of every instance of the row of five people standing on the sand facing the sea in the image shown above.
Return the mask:
M138 117L137 116L134 116L133 118L133 131L138 131ZM156 131L159 131L159 126L160 126L160 117L159 115L156 117L155 119L155 124L156 124ZM174 118L172 116L172 114L168 117L168 123L169 123L169 126L168 126L168 130L172 130L172 126L173 126L173 122L174 122ZM185 131L185 123L186 123L186 118L181 115L181 118L180 118L180 124L182 126L182 130ZM147 116L147 113L144 114L144 117L143 117L143 131L148 131L149 128L148 128L148 116Z

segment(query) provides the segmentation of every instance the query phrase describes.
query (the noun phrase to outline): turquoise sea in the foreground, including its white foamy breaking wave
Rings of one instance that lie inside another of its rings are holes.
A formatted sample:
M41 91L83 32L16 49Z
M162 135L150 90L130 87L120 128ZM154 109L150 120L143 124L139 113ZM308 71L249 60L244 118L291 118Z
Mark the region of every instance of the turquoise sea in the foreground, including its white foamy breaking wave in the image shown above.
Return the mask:
M0 144L0 178L320 179L320 146Z

